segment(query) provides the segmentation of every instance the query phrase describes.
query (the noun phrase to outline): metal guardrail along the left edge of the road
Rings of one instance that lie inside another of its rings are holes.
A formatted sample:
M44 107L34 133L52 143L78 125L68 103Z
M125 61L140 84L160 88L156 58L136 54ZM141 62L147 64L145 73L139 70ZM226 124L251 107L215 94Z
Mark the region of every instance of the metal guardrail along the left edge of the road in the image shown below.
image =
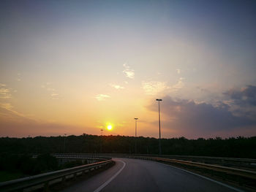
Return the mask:
M102 159L102 158L101 158ZM78 174L84 174L94 169L98 169L102 166L106 166L113 162L112 159L105 159L94 164L87 164L83 166L76 166L69 169L61 169L56 172L48 172L44 174L37 174L31 177L24 177L18 180L10 180L0 183L0 191L18 191L25 188L45 188L48 190L48 186L53 183L64 182L69 177L76 177Z

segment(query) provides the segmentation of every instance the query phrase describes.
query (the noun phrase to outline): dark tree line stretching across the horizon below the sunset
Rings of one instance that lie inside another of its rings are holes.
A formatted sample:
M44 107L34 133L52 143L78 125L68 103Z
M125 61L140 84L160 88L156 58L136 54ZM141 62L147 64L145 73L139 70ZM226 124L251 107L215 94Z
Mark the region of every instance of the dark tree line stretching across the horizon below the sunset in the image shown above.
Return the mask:
M97 136L83 134L67 137L0 138L0 153L159 153L159 139L154 137ZM163 155L205 155L256 158L256 137L220 137L161 139Z

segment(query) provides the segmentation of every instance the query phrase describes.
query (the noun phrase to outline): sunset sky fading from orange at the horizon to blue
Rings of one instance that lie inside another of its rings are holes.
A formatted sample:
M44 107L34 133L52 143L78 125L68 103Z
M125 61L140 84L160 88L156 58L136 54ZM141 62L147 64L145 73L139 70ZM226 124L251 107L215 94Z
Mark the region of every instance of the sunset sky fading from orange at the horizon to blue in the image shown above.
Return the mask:
M0 1L0 137L256 136L255 61L255 1Z

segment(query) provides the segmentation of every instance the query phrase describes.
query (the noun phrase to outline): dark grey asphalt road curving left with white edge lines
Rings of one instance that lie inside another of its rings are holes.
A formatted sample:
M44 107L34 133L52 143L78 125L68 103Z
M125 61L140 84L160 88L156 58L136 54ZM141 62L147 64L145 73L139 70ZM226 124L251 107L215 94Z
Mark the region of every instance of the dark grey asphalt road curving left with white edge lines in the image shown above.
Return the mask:
M116 165L66 188L75 191L239 191L173 166L154 161L114 158Z

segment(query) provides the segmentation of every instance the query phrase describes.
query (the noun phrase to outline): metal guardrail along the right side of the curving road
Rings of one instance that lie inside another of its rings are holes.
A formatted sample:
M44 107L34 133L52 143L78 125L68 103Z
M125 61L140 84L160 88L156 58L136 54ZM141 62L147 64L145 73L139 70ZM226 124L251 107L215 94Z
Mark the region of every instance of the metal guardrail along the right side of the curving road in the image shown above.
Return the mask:
M73 157L88 157L94 154L66 154ZM60 154L61 156L61 154ZM184 155L134 155L134 154L97 154L98 157L118 157L118 158L140 158L150 161L159 161L165 164L171 164L200 172L200 174L207 174L207 176L228 180L238 185L244 185L249 188L256 188L256 172L253 169L256 162L255 159L249 158L220 158L220 157L204 157L204 156L184 156ZM163 158L167 157L167 158ZM181 159L186 159L181 160ZM206 163L204 163L206 162ZM235 163L232 163L235 162ZM222 166L225 165L225 166ZM228 165L228 166L227 166ZM230 167L234 166L234 167ZM239 168L236 168L238 166Z

